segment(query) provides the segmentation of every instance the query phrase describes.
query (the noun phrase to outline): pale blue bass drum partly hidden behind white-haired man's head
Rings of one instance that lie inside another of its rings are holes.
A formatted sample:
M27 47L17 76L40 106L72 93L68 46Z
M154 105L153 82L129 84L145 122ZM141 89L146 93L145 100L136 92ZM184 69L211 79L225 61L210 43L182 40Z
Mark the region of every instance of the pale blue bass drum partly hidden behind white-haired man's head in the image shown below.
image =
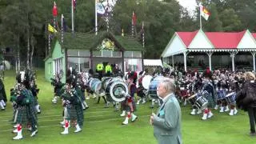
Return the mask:
M151 98L158 98L158 93L157 93L158 84L162 81L163 78L165 77L157 76L157 77L154 77L150 82L148 94Z

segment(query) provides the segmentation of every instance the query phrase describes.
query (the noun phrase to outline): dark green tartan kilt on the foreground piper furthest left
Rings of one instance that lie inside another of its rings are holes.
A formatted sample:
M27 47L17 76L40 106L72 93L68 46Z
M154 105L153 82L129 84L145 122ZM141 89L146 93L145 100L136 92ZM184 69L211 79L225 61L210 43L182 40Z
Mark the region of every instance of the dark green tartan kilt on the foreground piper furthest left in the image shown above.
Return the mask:
M26 124L26 122L28 122L26 106L18 107L14 122L18 124Z

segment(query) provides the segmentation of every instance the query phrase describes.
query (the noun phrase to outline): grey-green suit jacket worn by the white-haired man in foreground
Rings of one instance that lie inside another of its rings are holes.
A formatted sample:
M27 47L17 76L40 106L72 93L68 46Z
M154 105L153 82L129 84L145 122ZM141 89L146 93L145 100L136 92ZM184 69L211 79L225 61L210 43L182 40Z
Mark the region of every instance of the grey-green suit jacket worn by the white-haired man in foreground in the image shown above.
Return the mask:
M154 115L154 137L159 144L182 144L182 113L174 94L166 99Z

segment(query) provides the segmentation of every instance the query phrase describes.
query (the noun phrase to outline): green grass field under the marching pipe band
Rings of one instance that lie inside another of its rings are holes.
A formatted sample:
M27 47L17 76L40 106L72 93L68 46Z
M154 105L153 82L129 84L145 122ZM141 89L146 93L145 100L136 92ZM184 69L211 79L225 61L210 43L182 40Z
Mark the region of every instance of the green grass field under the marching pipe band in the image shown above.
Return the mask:
M66 144L72 143L114 143L114 144L150 144L157 143L153 136L153 127L149 124L151 109L150 103L138 106L135 114L138 120L122 126L124 118L114 112L114 107L103 108L104 102L95 104L96 100L87 100L90 108L84 112L85 123L81 133L74 134L75 128L70 128L70 134L61 135L62 127L58 124L62 121L62 106L51 103L53 98L53 86L46 82L44 70L37 71L37 84L40 88L38 101L42 107L42 114L38 114L38 134L30 138L30 132L22 130L25 138L20 141L13 141L15 134L11 133L12 125L8 120L12 117L12 107L7 103L6 110L0 111L0 143L36 143L36 144ZM10 88L14 86L15 76L13 71L6 71L4 80L6 94L10 98ZM190 115L191 106L182 106L182 139L185 144L252 144L256 143L256 137L249 136L250 126L246 113L238 111L233 117L228 113L219 114L214 110L214 117L207 121L200 120L202 115ZM154 112L157 108L154 108Z

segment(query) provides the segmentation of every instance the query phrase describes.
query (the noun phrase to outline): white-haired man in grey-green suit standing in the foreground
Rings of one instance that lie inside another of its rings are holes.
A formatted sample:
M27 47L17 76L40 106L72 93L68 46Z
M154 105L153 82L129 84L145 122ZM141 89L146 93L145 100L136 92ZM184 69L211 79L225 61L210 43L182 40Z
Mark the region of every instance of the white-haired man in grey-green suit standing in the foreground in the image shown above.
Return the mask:
M158 84L158 97L162 99L162 105L157 114L150 116L150 124L154 126L154 137L158 143L182 143L182 113L174 90L173 79L165 78Z

